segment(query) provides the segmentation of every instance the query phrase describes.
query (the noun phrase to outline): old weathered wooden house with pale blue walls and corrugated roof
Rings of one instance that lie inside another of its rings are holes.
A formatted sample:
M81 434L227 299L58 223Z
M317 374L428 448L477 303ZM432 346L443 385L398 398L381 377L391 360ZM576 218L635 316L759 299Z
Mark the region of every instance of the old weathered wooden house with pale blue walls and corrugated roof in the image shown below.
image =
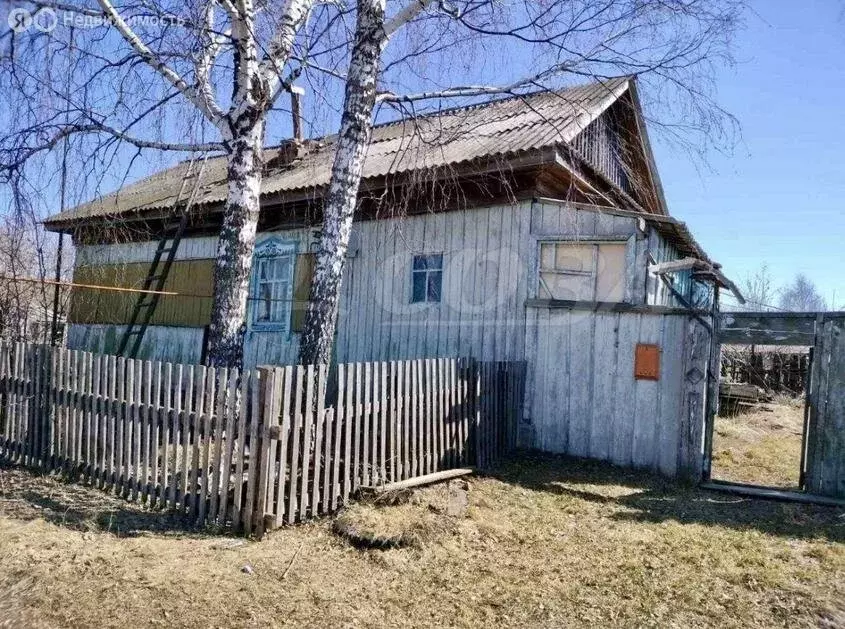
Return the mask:
M296 361L333 140L266 151L247 366ZM49 219L73 235L75 282L143 282L188 168ZM224 160L198 185L145 358L203 359ZM374 129L335 355L525 360L524 445L674 474L687 326L713 283L727 280L669 215L633 79L503 98ZM116 351L135 300L76 290L69 346ZM645 378L639 346L658 348Z

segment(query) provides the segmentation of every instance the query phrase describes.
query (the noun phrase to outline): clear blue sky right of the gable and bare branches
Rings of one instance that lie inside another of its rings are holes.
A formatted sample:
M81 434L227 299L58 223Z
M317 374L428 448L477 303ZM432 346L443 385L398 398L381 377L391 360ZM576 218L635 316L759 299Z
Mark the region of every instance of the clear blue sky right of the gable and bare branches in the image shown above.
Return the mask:
M759 0L719 71L720 104L742 125L706 166L652 138L673 215L742 280L768 263L776 285L808 275L845 307L845 4ZM845 308L843 308L845 309Z

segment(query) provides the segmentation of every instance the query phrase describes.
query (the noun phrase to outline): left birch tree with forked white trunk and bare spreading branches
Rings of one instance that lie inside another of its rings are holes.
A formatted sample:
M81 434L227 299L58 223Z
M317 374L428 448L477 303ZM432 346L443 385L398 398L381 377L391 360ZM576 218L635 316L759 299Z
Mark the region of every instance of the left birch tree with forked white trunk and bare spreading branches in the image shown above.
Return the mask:
M115 143L225 155L228 192L209 334L215 365L241 363L267 116L294 80L294 42L312 7L313 0L260 6L252 0L174 6L98 0L96 7L39 1L9 14L2 87L20 96L27 115L0 138L0 173L7 181L24 177L29 162L71 136L93 138L92 156L108 153ZM65 22L69 28L59 28ZM74 28L75 40L65 33ZM79 72L81 80L66 95L55 89L55 77L39 56L71 51L79 61L67 71ZM43 100L33 104L35 98ZM149 129L150 118L166 115L174 99L182 101L177 111L184 114L188 105L201 116L195 121L200 135L211 131L216 138L183 142L137 133Z

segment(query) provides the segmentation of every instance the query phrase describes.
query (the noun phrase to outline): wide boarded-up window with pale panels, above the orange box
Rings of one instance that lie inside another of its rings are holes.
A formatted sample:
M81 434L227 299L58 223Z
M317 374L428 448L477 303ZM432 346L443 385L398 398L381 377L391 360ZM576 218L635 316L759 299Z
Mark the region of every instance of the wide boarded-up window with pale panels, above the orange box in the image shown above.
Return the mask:
M540 243L537 295L545 299L623 301L625 246L621 242Z

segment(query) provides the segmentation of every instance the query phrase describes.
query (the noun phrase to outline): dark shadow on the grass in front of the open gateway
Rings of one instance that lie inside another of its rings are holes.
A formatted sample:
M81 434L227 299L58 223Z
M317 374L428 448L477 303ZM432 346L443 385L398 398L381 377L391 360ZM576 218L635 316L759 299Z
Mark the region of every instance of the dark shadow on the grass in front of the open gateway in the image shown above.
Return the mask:
M620 521L676 521L845 543L842 507L734 496L606 462L537 452L517 453L489 475L533 491L606 505L607 517Z

